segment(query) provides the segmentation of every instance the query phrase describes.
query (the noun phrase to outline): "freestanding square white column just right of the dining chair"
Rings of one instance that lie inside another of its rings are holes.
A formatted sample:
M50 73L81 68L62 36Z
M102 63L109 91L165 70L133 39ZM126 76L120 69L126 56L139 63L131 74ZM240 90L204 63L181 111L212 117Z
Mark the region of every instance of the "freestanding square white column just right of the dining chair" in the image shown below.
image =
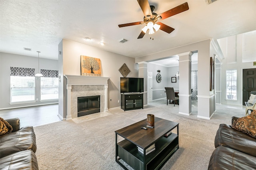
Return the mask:
M180 114L191 115L191 56L192 52L178 54L179 56L179 105Z

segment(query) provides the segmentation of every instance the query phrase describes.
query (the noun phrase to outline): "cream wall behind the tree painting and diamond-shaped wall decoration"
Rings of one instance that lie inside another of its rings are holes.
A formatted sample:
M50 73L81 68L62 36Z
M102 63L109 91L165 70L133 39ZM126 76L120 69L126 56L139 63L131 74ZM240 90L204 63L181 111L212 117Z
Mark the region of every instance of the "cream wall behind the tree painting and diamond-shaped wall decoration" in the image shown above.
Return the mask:
M104 51L67 39L63 39L62 42L60 42L59 51L61 50L62 55L59 55L59 65L61 66L63 64L62 75L81 75L81 55L100 59L102 64L101 76L110 77L108 80L108 108L120 107L121 102L118 103L118 100L121 101L120 77L123 76L119 72L119 68L125 63L131 71L127 77L138 77L138 64L135 64L134 58ZM65 91L66 87L64 86L63 88Z

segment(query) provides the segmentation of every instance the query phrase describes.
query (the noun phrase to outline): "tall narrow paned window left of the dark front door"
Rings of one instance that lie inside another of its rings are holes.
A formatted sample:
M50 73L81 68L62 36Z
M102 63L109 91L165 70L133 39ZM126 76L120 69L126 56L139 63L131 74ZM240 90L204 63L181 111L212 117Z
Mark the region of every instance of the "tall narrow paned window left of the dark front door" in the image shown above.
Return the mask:
M236 70L226 70L226 99L236 100Z

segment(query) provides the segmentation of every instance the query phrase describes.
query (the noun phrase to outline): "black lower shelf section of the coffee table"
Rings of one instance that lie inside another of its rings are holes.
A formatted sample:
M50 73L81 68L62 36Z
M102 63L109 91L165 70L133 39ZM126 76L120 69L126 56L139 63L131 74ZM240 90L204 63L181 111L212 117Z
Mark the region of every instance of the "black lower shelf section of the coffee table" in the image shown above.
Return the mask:
M123 141L117 143L117 158L116 162L120 164L123 168L127 169L123 160L129 166L135 170L157 170L162 168L162 166L169 160L169 158L178 150L178 135L172 133L168 137L162 137L155 143L156 150L145 155L138 151L137 146L124 139Z

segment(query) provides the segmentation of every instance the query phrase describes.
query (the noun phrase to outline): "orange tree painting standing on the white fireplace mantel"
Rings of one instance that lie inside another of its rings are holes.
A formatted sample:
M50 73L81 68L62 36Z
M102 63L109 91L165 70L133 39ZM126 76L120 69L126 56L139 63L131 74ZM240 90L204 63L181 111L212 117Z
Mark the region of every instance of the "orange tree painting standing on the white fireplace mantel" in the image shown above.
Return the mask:
M101 76L100 59L81 55L81 75Z

